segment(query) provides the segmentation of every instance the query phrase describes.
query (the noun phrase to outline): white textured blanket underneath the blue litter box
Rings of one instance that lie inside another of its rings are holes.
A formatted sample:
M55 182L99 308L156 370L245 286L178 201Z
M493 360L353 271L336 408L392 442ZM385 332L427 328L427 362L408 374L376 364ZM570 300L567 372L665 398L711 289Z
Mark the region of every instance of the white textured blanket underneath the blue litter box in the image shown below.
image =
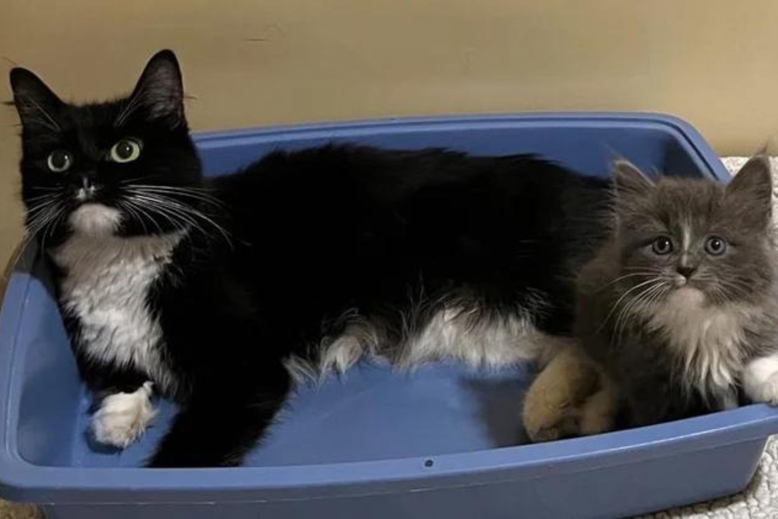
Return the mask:
M725 157L724 165L731 172L736 172L746 161L742 157ZM773 186L776 186L778 204L778 174L776 162L773 162ZM778 210L778 206L776 206ZM778 217L778 211L776 211ZM722 467L721 470L727 470ZM33 507L15 505L0 501L0 519L31 519L39 517ZM644 516L644 519L669 519L670 517L696 517L698 519L740 519L754 517L755 519L778 518L778 436L770 438L762 455L762 462L745 491L707 503L698 503L665 512L657 512Z

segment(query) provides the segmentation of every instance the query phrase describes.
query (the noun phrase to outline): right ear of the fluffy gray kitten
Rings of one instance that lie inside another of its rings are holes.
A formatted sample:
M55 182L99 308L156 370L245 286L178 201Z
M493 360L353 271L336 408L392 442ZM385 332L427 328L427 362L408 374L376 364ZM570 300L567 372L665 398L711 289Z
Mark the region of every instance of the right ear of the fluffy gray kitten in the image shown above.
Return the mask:
M748 207L754 216L770 218L773 214L773 169L764 153L754 155L727 185L727 198Z

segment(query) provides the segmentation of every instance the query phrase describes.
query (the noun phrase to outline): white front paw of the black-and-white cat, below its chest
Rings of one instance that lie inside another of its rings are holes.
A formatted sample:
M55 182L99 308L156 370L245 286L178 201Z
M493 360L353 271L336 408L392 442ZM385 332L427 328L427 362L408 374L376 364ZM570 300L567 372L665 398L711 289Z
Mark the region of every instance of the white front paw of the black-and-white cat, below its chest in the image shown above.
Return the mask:
M96 441L124 449L137 440L156 416L150 399L152 385L146 382L135 392L116 393L103 399L92 416Z

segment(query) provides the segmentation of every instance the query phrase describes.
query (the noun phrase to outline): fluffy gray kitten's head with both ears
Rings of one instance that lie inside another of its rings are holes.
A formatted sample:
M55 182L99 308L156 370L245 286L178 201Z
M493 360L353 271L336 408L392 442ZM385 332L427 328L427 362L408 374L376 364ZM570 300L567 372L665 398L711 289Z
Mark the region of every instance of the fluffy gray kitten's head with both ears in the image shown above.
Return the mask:
M614 172L619 281L650 311L687 305L758 304L773 286L769 162L752 158L728 186L699 179L656 182L628 162Z

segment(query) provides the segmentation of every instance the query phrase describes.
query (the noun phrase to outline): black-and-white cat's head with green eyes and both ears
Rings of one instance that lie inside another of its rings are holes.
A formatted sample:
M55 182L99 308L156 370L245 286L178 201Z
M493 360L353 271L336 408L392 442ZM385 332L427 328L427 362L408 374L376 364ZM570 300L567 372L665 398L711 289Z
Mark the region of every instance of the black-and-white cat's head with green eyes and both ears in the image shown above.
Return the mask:
M10 79L30 235L152 235L197 219L200 162L172 52L152 57L131 95L108 103L65 103L23 68Z

